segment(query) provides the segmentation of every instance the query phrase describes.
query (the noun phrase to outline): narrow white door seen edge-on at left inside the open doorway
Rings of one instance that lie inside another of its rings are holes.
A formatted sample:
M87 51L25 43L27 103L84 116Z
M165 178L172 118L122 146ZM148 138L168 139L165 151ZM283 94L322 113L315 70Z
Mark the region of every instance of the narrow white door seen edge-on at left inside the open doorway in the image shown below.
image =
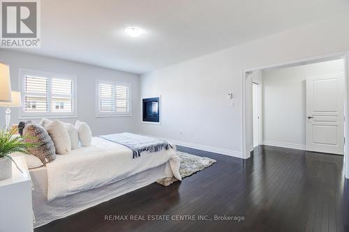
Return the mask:
M253 118L253 147L260 144L260 133L259 133L259 88L258 84L252 83L252 118Z

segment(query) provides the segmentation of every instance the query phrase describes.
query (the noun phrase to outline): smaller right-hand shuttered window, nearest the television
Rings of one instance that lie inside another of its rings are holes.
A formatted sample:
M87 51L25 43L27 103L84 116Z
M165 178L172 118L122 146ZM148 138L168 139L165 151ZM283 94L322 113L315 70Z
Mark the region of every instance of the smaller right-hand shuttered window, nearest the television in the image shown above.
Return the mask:
M129 84L98 81L97 116L131 116Z

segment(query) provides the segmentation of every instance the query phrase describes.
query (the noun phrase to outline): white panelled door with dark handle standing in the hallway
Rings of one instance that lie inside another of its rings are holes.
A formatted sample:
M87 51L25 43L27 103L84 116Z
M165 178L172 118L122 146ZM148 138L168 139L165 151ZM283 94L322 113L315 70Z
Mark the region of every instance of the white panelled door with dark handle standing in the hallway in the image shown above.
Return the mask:
M306 78L306 150L344 154L344 75Z

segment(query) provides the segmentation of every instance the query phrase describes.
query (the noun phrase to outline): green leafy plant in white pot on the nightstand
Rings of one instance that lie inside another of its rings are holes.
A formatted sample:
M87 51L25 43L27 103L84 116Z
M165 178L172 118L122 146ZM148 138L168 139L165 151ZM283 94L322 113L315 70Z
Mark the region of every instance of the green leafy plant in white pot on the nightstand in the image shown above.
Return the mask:
M17 130L0 130L0 158L8 157L15 163L18 170L22 170L17 166L15 160L10 156L11 153L20 152L24 154L31 155L29 148L34 148L38 144L24 142L24 139L27 137L14 135L17 133Z

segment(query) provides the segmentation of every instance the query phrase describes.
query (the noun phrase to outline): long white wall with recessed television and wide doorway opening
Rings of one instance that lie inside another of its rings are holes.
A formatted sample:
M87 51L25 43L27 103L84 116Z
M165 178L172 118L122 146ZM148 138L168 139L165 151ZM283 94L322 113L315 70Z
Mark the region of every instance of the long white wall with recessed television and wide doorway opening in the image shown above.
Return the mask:
M316 22L142 75L141 95L162 96L162 123L140 124L140 132L241 157L242 70L347 50L348 20ZM235 107L226 98L231 92Z

